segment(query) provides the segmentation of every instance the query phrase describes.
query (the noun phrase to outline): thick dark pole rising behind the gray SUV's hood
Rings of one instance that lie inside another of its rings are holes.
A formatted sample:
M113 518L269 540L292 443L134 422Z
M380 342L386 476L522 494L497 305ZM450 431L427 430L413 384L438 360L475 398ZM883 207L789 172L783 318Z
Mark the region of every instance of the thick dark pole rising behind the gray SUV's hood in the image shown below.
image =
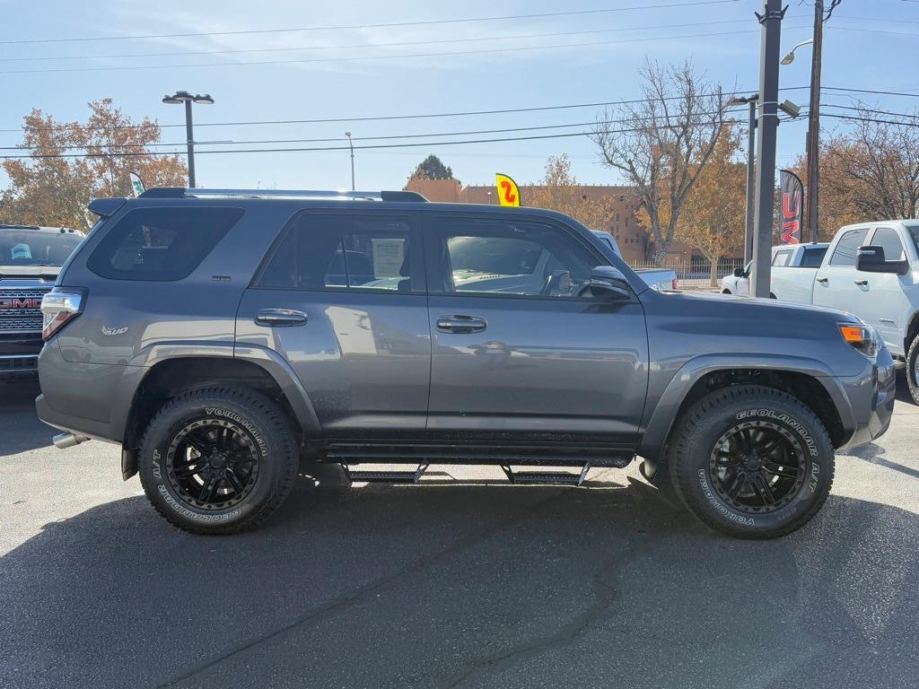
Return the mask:
M778 53L781 40L781 0L764 0L759 62L759 123L756 136L756 196L751 296L767 298L771 278L772 215L776 197L776 130L778 127Z

